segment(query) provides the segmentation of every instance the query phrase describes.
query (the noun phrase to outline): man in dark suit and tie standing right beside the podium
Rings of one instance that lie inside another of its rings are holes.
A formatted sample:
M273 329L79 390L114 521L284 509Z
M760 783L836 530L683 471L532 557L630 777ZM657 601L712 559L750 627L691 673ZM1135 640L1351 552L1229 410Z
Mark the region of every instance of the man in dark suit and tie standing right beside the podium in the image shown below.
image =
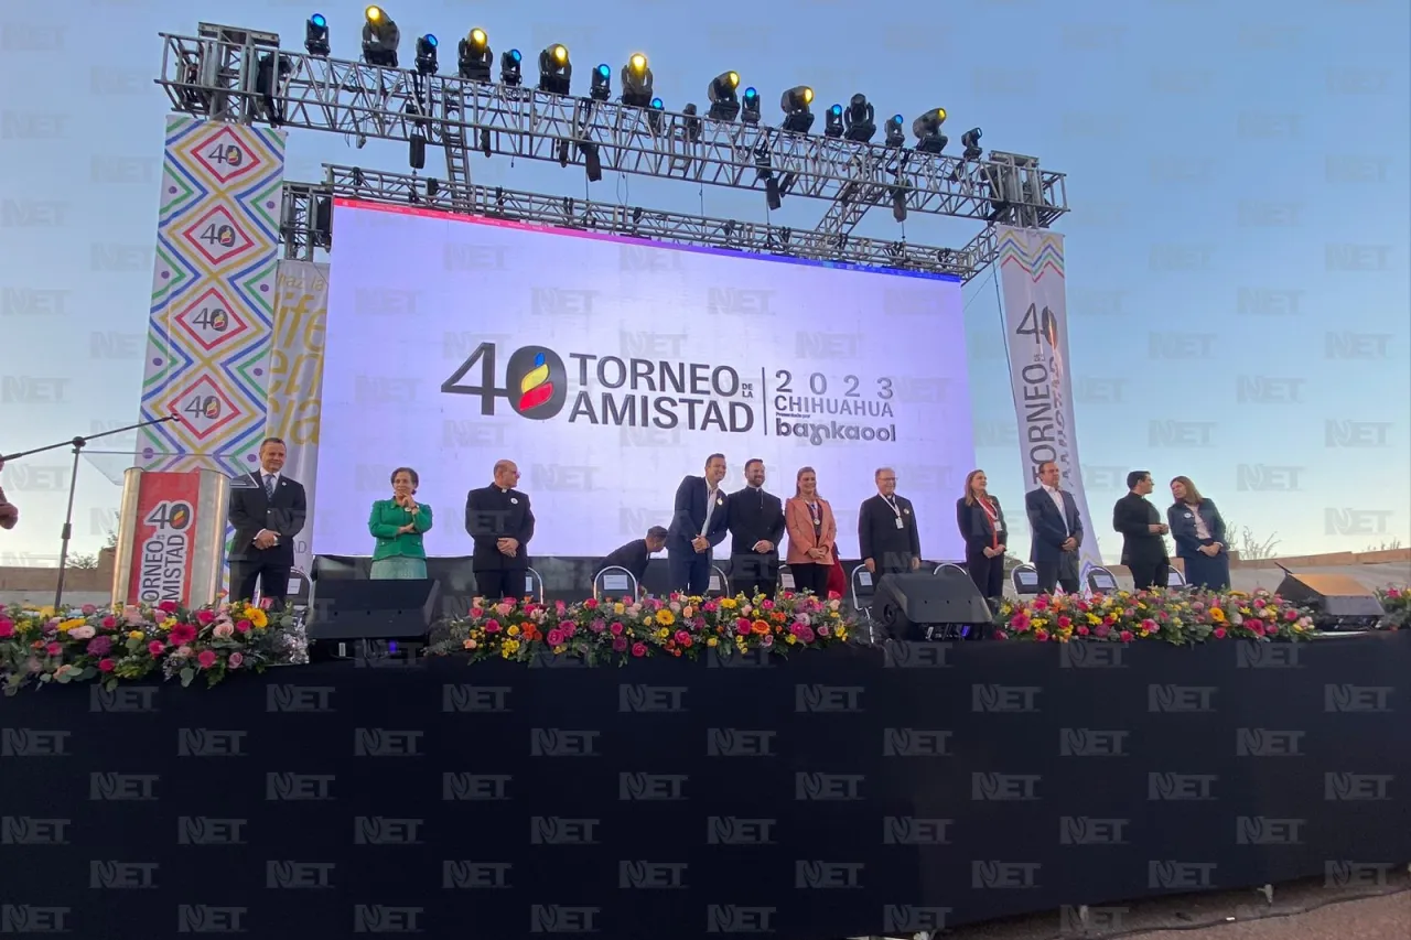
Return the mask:
M253 600L255 583L271 607L284 607L293 567L293 536L303 531L309 504L303 486L284 476L286 450L278 438L260 443L260 470L253 487L231 488L230 597Z

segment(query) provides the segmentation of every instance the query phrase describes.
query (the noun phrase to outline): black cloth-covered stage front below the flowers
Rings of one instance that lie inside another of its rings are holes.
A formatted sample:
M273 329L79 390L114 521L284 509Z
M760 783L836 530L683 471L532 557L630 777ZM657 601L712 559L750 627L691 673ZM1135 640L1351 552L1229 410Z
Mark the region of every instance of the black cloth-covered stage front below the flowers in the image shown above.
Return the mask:
M24 692L6 916L827 940L1356 884L1411 860L1407 676L1391 632Z

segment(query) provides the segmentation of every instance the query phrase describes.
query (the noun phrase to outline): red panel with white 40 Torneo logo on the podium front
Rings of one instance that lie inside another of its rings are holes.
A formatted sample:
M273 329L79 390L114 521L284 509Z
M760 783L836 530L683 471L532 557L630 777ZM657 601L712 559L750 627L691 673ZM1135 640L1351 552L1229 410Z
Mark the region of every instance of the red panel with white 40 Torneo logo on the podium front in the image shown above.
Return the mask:
M137 532L128 604L190 603L192 550L200 474L144 473L137 491Z

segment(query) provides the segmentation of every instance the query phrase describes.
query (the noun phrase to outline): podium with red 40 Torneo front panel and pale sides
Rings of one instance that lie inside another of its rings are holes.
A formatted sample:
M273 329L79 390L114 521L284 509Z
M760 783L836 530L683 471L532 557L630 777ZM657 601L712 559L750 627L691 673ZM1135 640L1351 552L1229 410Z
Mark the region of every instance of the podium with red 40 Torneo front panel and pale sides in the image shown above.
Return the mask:
M224 582L230 480L214 470L123 474L113 605L212 604Z

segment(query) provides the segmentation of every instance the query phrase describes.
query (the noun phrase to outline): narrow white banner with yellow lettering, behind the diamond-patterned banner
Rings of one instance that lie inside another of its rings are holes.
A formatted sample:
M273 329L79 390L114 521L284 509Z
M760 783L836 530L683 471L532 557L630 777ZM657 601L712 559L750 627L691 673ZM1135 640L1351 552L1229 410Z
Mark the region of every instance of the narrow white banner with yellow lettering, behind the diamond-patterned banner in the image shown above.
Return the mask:
M323 327L329 316L329 265L279 263L279 296L270 351L270 399L264 436L285 443L284 476L303 484L309 512L293 542L293 566L310 570L315 493L319 466L319 414L323 405Z

